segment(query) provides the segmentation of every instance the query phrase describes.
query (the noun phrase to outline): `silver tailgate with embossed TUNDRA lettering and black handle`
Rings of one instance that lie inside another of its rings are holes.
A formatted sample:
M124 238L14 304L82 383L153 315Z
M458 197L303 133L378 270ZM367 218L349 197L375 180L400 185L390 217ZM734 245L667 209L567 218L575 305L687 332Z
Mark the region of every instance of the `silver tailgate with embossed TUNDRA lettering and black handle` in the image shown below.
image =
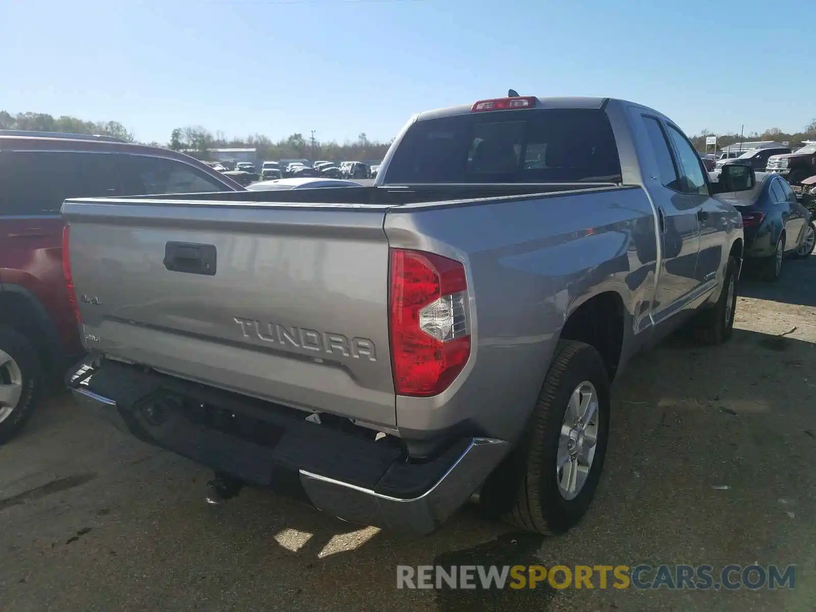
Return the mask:
M86 347L393 427L387 208L69 200Z

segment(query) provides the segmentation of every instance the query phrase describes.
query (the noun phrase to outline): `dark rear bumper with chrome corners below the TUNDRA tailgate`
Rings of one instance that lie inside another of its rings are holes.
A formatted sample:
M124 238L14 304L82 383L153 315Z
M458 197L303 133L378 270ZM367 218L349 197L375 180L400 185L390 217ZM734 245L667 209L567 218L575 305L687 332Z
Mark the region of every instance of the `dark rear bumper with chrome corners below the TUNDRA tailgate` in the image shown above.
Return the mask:
M397 446L295 410L95 357L66 382L86 410L144 441L346 521L421 534L467 502L509 449L463 438L436 459L407 463Z

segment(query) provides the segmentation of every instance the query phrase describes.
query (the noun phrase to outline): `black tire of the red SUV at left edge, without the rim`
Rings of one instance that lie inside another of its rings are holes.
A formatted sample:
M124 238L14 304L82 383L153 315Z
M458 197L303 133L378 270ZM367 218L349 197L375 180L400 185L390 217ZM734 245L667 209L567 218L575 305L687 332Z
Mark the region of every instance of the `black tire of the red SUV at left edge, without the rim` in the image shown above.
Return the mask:
M43 384L42 368L37 351L29 339L11 327L0 327L0 360L11 357L11 362L0 364L0 385L10 384L11 376L16 377L15 367L20 373L22 387L20 398L11 413L0 421L0 444L5 444L16 435L31 416L37 405ZM2 408L0 406L0 414Z

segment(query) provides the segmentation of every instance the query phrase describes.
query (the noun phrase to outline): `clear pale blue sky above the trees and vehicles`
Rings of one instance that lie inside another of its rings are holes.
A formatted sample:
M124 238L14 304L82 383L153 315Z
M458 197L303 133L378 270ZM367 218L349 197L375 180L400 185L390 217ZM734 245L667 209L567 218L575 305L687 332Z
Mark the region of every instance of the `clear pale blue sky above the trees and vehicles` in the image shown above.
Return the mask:
M814 17L814 0L4 0L0 109L145 141L388 140L512 87L636 100L690 134L792 132L816 118Z

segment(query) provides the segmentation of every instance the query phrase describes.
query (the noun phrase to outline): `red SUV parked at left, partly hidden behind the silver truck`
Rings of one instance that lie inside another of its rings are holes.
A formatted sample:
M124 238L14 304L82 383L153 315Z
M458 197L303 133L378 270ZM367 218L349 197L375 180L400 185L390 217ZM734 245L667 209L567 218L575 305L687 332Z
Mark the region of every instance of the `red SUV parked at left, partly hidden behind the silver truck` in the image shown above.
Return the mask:
M29 418L47 382L84 350L76 299L96 298L65 288L64 199L237 190L210 166L168 149L0 131L0 443Z

